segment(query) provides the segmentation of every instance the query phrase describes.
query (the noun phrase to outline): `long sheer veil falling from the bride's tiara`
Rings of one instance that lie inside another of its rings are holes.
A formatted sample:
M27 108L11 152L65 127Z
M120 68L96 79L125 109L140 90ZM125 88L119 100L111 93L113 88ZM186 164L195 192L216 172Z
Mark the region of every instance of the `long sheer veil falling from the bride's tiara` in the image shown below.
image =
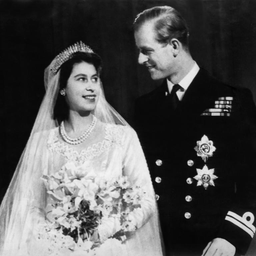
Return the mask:
M49 153L45 136L49 130L58 127L53 119L53 110L59 93L60 71L52 72L56 58L45 69L46 94L26 147L21 155L11 183L7 189L0 207L0 255L23 254L23 247L32 241L35 213L44 218L43 210L46 193L39 181L44 169L47 168ZM102 122L129 126L128 123L106 101L101 85L100 96L94 115ZM38 221L38 220L37 220ZM29 223L29 225L28 225ZM154 219L154 229L158 229L158 217ZM31 243L33 246L33 243ZM24 247L25 248L25 247ZM25 250L25 249L24 249ZM38 255L38 254L30 254ZM43 254L42 254L43 255Z

